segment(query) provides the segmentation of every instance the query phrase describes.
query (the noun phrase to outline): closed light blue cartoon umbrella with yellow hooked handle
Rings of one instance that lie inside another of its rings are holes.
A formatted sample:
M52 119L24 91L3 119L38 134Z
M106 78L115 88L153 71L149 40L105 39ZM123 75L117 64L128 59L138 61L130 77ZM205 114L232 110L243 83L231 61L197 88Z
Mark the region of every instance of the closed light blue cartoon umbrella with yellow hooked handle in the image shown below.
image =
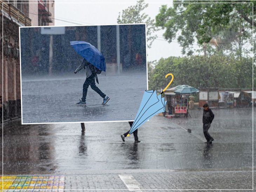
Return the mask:
M169 84L164 88L162 93L169 87L171 82L173 81L173 74L168 73L165 78L168 76L171 76L171 81ZM156 115L157 113L165 112L166 108L166 102L164 101L164 98L162 98L162 93L157 95L156 91L154 90L146 90L143 94L142 101L140 104L140 108L137 112L137 115L135 117L135 120L133 122L133 125L129 131L130 134L133 133L137 128L142 126L147 120L149 120L151 117Z

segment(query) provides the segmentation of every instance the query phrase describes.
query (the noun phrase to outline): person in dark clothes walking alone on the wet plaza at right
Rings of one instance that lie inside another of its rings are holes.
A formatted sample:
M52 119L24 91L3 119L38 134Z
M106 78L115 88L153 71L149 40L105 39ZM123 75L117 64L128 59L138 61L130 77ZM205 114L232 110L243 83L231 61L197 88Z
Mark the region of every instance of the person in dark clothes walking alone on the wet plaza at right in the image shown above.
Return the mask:
M203 105L203 134L206 137L208 144L211 144L214 141L213 137L210 136L208 130L211 126L211 122L213 122L214 114L209 108L209 105L206 103Z

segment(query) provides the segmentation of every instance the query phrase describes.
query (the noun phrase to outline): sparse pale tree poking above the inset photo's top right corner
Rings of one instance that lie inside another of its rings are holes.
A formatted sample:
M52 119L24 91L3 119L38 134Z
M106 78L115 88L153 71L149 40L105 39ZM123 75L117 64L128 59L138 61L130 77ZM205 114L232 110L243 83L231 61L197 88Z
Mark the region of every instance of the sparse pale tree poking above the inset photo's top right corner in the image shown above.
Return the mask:
M122 14L119 12L117 18L117 23L146 23L147 24L147 46L151 47L153 41L156 39L157 35L154 32L157 31L155 26L155 20L151 19L147 14L141 13L144 9L148 7L148 3L144 0L137 1L134 6L129 6L127 9L122 10Z

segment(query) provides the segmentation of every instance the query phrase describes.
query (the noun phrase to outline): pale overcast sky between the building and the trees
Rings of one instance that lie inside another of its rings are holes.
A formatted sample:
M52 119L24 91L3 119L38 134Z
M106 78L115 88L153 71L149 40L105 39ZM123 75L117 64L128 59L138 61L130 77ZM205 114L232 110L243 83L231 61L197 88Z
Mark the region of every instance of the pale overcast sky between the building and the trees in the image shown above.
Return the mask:
M146 1L149 6L144 9L151 19L159 12L161 5L172 5L172 1ZM136 1L63 1L55 0L55 18L83 25L117 24L119 12L135 5ZM77 24L55 20L55 26L74 26ZM157 39L148 49L148 61L159 60L161 57L182 56L181 47L177 42L168 43L163 39L163 30L157 31Z

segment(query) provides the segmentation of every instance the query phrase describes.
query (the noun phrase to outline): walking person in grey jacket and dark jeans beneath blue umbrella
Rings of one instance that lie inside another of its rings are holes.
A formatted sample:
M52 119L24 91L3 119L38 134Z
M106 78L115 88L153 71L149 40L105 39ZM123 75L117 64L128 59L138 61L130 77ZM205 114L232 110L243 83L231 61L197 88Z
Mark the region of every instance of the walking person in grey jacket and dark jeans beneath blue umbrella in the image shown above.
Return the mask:
M86 105L86 95L88 91L89 85L91 86L92 90L94 90L96 93L98 93L102 98L103 102L101 105L105 105L109 101L109 97L107 97L106 94L104 94L95 84L95 78L97 83L99 84L97 74L90 68L90 63L86 61L86 59L83 59L82 64L75 70L75 73L80 71L82 68L86 70L86 80L85 83L83 84L83 94L81 100L76 103L76 105Z

